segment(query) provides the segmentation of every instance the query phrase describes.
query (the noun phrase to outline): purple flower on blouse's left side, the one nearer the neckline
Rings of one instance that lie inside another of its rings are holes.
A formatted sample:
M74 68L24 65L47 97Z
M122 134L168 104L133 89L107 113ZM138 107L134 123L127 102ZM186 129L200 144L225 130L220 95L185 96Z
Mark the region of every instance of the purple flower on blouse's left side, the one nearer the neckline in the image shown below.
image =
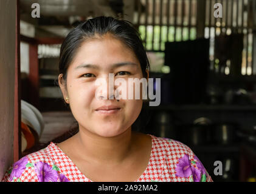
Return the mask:
M39 182L57 182L58 180L58 172L52 169L49 164L37 162L35 164L35 170Z

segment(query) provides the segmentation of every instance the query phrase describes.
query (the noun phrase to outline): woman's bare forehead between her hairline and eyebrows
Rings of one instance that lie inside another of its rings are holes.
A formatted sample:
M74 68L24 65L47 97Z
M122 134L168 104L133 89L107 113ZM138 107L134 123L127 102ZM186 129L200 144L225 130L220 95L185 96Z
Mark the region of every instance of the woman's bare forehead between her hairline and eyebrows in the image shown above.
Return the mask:
M120 62L132 62L139 65L135 53L122 41L112 36L103 36L83 42L75 53L72 69L81 64L98 64L108 67Z

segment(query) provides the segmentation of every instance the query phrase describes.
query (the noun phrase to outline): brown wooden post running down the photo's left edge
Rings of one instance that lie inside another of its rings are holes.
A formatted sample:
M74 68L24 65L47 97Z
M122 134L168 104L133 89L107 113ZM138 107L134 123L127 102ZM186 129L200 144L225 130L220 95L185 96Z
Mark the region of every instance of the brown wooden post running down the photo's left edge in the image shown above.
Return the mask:
M16 1L0 0L0 179L13 163Z

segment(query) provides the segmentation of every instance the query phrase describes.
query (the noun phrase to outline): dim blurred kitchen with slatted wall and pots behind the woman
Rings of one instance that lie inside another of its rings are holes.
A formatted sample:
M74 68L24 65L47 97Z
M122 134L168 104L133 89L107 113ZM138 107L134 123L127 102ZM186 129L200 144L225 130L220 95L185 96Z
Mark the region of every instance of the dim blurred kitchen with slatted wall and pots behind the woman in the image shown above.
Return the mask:
M22 155L77 127L56 85L60 45L79 22L105 15L133 23L151 78L161 78L161 104L145 107L141 132L187 144L213 181L256 181L256 1L20 0L19 12Z

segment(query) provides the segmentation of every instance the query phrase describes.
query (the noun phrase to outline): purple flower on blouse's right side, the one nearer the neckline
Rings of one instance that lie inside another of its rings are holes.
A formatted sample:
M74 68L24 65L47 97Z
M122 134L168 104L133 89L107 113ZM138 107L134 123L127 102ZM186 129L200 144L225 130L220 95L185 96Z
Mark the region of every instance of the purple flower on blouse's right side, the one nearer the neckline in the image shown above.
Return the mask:
M188 178L190 175L192 175L191 164L188 155L185 154L182 158L179 159L175 171L175 175L180 177Z

